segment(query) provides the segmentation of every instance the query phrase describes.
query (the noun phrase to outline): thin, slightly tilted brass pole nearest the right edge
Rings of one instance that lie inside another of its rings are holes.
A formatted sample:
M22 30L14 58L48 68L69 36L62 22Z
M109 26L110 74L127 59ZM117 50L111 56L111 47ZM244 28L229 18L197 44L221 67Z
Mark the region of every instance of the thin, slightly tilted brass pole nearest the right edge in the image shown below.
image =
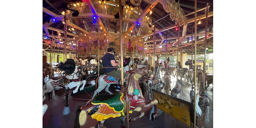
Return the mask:
M205 64L206 64L206 48L207 48L207 23L208 23L208 11L209 11L209 5L208 5L208 3L206 4L206 6L208 6L207 8L206 8L206 21L205 21L205 40L204 40L204 79L203 79L203 91L205 90L205 88L204 88L204 84L205 84Z

